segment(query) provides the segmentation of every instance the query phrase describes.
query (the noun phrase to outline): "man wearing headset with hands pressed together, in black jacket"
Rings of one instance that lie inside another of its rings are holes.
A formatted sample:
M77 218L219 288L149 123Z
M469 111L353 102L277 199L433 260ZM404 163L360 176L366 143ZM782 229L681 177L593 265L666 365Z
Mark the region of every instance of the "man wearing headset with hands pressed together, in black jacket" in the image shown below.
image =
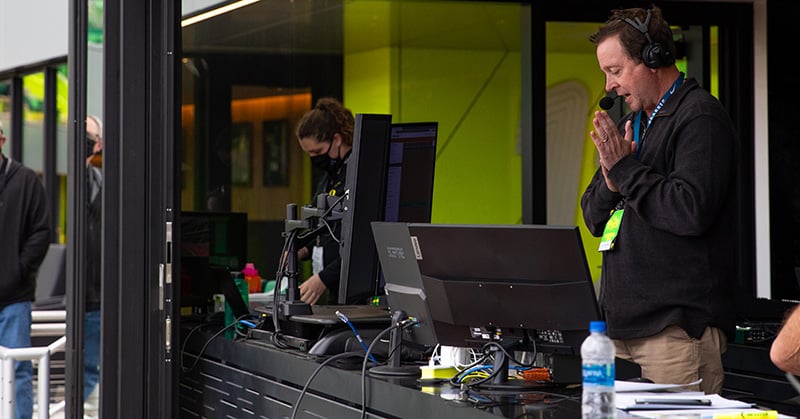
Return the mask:
M675 65L661 10L614 10L590 37L607 92L594 114L599 167L581 198L603 252L600 306L617 356L656 383L722 390L733 334L737 137L728 113Z

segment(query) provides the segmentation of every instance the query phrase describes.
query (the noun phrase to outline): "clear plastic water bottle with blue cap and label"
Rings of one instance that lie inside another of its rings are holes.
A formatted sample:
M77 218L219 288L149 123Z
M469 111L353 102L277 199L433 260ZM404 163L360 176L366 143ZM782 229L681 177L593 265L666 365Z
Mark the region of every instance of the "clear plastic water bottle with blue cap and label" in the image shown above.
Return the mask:
M617 416L614 403L614 342L606 335L606 322L589 323L589 336L581 345L583 373L583 419L613 419Z

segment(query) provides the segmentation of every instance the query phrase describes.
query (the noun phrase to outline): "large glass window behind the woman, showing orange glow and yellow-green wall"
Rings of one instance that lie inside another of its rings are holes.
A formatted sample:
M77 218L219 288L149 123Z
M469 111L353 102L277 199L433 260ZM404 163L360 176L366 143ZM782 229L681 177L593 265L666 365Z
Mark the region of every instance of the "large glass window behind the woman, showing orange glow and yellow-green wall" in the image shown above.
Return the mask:
M286 204L310 202L318 176L294 128L334 96L355 113L439 122L432 221L520 222L529 6L313 3L264 0L183 28L182 208L247 213L261 238L249 261L275 272Z

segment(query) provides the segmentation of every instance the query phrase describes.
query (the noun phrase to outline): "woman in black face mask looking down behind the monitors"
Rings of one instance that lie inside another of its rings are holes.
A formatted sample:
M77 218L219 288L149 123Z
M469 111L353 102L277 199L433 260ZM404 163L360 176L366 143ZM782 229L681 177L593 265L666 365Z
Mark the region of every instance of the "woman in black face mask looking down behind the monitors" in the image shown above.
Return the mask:
M345 191L347 158L353 148L355 117L334 98L321 98L297 125L295 134L300 148L311 157L314 167L323 171L314 197L319 194L341 196ZM341 233L340 221L331 221L335 237ZM311 243L301 247L301 260L312 258L313 275L300 284L300 299L315 304L329 291L328 303L335 304L339 291L341 258L339 243L323 230Z

